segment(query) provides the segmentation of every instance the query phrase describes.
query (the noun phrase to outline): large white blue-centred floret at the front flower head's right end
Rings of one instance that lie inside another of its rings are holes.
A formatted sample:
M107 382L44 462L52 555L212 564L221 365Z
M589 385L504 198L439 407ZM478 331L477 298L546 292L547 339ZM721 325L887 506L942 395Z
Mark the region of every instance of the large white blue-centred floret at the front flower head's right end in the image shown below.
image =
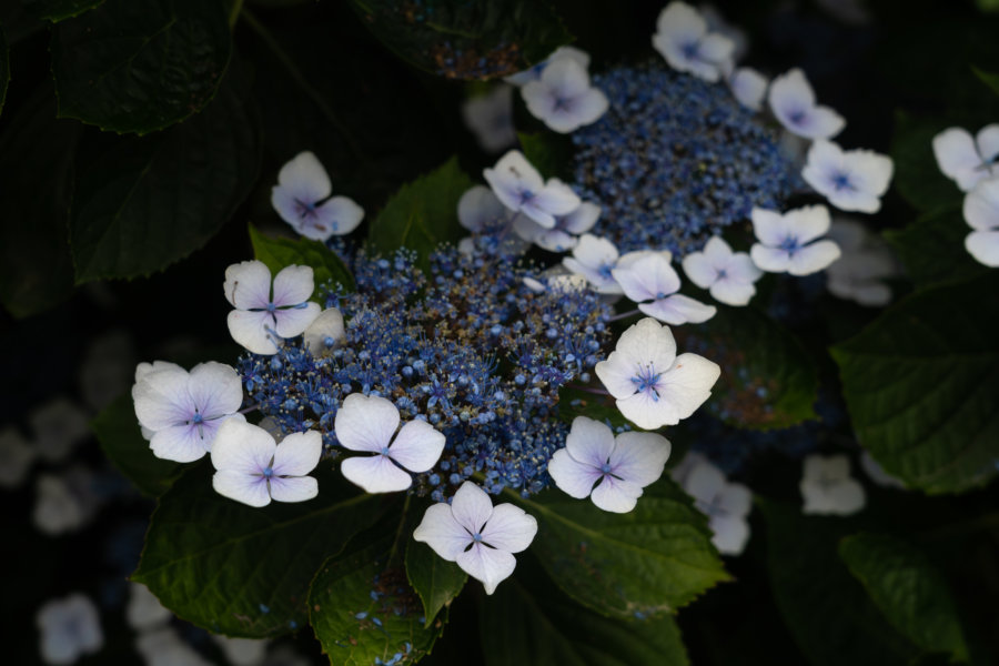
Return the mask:
M669 326L644 319L622 333L617 347L594 369L626 418L645 430L676 425L712 394L722 374L697 354L676 355Z

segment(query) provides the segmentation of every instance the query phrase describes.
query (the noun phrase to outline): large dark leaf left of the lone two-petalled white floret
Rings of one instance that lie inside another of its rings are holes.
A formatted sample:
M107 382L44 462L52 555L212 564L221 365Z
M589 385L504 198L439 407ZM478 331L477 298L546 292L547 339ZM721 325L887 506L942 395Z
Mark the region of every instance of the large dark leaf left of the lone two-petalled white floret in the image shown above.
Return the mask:
M238 84L226 78L204 112L167 132L94 138L70 221L78 283L162 270L235 212L260 163L254 108Z

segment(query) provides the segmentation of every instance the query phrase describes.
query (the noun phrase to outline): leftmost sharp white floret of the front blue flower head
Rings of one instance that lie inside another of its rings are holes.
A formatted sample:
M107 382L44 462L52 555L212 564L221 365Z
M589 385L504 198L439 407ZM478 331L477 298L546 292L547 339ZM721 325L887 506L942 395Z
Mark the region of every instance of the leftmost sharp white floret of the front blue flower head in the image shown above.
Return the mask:
M243 384L229 365L211 361L195 365L190 373L173 363L162 363L159 369L137 367L135 376L141 379L132 386L135 416L145 434L151 434L149 446L157 457L196 461L212 450L223 422L245 421L238 413Z

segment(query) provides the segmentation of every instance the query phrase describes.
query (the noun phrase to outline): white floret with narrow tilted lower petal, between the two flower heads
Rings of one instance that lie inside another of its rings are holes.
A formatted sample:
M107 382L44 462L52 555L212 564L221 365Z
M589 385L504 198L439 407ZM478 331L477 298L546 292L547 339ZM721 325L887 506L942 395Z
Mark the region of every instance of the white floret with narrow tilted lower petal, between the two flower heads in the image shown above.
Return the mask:
M714 305L705 305L689 296L676 293L679 275L669 263L669 255L660 252L629 252L620 258L610 271L624 294L638 303L638 310L660 322L678 326L700 324L717 312Z

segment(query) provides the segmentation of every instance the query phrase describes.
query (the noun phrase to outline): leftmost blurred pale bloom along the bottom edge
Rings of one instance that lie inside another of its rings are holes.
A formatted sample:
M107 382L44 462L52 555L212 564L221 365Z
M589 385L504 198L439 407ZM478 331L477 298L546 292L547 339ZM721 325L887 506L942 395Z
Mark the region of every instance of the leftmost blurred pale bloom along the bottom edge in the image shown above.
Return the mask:
M46 603L38 609L34 624L41 632L41 656L46 664L73 664L104 646L100 613L80 593Z

